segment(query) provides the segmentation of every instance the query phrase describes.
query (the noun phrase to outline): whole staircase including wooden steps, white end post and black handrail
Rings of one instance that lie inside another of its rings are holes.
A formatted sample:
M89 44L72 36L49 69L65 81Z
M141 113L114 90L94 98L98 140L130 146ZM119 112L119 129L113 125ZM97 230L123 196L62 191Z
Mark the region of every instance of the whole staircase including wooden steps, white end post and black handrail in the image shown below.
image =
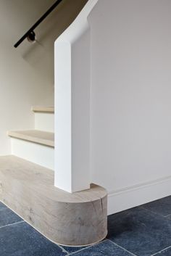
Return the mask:
M0 201L66 246L87 246L107 236L107 191L91 183L90 173L88 15L97 1L89 0L55 42L55 131L54 108L32 107L34 129L8 131L12 154L0 157ZM49 10L15 47L35 34Z

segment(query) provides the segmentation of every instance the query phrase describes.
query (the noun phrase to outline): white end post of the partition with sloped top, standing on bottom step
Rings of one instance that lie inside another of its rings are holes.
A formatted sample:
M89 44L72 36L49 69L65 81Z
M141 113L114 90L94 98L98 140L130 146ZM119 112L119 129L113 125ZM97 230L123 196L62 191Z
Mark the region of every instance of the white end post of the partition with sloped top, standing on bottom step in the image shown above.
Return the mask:
M89 0L55 42L55 186L69 192L90 188Z

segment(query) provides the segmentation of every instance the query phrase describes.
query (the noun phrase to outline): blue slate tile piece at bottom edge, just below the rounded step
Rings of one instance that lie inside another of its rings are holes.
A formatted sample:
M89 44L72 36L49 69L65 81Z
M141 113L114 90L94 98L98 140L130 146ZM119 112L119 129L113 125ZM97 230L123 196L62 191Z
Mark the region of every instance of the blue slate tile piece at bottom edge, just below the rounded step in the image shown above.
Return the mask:
M132 256L124 249L117 247L112 241L104 240L99 244L93 245L83 249L80 252L76 252L74 256Z

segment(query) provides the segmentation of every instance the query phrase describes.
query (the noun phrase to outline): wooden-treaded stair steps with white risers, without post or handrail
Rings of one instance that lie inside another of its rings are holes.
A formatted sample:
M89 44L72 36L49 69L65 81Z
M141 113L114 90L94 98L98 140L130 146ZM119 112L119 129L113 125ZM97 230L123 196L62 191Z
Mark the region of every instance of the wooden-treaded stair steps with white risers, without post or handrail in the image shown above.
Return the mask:
M107 191L91 184L70 194L54 186L54 108L32 110L35 129L8 132L12 155L0 157L0 201L54 243L101 241L107 236Z

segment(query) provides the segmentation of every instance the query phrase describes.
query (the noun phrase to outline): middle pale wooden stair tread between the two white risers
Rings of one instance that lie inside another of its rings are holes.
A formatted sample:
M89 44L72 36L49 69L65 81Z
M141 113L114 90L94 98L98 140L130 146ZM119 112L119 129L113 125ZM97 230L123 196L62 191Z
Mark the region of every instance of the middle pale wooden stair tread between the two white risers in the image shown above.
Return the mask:
M54 133L38 130L9 131L8 136L54 147Z

